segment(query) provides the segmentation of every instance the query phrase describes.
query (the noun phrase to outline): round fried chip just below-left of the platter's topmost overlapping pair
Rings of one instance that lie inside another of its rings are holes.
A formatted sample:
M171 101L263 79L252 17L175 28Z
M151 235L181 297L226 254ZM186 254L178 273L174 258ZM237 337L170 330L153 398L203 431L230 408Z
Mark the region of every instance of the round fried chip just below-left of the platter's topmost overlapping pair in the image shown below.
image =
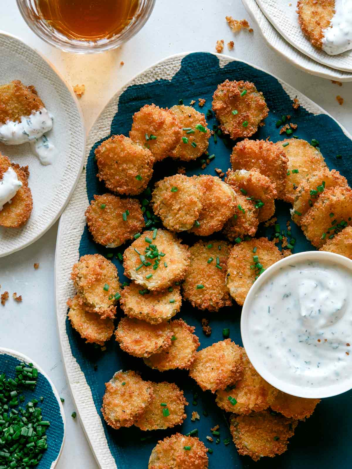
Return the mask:
M108 189L118 194L140 194L153 174L151 152L124 135L104 140L96 148L95 156L99 181L104 181Z

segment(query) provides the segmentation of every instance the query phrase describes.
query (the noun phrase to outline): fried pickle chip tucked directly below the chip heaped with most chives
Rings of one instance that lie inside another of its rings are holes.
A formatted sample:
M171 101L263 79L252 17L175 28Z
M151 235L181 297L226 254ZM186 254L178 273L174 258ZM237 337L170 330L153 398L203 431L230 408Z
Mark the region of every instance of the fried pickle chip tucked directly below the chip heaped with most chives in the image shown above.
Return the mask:
M158 292L144 292L141 286L131 282L121 292L120 306L129 318L142 319L150 324L160 324L168 321L180 311L180 286L174 285L167 290Z

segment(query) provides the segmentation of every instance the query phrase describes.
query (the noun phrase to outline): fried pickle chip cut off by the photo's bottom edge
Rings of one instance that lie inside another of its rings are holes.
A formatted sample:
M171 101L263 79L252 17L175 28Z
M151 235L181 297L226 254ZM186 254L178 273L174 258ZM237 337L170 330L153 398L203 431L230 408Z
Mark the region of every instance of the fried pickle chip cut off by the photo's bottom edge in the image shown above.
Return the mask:
M185 451L185 446L191 449ZM158 441L150 454L148 469L208 469L207 451L197 437L175 433Z

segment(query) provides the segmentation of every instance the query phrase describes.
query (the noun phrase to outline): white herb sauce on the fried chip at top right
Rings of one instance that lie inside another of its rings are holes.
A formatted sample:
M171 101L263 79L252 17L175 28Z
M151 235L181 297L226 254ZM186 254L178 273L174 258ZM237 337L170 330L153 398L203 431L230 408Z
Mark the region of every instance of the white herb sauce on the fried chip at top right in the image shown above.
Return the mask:
M337 55L352 49L352 0L335 0L335 14L322 32L326 53Z

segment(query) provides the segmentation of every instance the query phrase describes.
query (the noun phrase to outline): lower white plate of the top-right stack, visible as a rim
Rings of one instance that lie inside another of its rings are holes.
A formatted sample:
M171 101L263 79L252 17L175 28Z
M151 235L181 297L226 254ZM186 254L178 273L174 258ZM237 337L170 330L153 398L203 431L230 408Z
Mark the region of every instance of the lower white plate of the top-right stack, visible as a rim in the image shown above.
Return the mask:
M268 45L292 65L311 75L321 76L329 80L352 81L352 73L322 65L289 44L270 23L255 0L242 0L242 3L254 22L255 29L259 29Z

